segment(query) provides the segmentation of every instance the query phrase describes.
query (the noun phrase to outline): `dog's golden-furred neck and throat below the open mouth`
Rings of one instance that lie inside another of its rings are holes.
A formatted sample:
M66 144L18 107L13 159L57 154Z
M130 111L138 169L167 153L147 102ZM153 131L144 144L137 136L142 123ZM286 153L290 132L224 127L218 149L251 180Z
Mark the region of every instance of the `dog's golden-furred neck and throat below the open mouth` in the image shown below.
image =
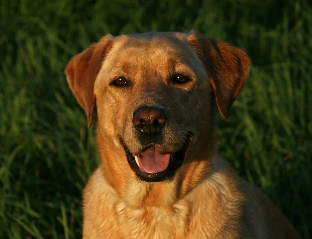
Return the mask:
M135 172L129 167L124 150L112 148L113 142L109 142L109 139L103 138L98 132L97 142L101 170L119 199L128 207L171 206L188 194L211 172L212 160L216 152L216 137L213 128L211 128L211 132L207 133L209 137L197 139L202 143L196 144L197 148L189 146L184 163L177 170L173 180L162 183L146 183L137 179ZM210 145L211 147L200 147L200 145ZM202 148L206 150L203 151ZM196 159L197 162L191 164L190 158Z

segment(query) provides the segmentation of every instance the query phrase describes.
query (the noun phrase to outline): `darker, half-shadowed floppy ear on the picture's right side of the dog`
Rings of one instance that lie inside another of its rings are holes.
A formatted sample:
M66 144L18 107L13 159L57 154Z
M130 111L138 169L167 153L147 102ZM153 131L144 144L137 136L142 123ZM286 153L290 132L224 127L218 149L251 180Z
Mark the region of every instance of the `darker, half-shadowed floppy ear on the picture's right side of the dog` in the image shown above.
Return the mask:
M225 42L191 32L188 41L207 68L218 109L225 120L248 77L250 60L246 53Z

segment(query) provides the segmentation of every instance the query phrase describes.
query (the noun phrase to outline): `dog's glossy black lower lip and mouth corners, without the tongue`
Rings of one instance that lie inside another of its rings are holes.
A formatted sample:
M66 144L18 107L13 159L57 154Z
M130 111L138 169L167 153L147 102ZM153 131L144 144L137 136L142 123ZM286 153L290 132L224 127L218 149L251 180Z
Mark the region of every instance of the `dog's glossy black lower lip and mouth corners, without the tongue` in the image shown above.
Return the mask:
M155 173L155 174L150 174L150 173L141 171L139 169L139 166L135 162L133 154L129 151L124 141L122 139L120 139L120 141L127 155L129 166L132 170L135 171L138 179L145 181L145 182L163 182L167 180L172 180L174 178L174 174L176 170L182 166L183 161L184 161L185 151L189 143L189 138L183 142L182 147L177 152L171 153L168 167L162 172ZM145 147L145 149L148 149L151 145Z

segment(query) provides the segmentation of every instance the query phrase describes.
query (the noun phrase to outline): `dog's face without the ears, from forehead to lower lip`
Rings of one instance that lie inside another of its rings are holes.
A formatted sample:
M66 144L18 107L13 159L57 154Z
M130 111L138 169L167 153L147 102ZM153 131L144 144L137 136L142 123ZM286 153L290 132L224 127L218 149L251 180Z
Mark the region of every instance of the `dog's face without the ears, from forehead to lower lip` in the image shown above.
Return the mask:
M138 179L170 180L206 125L197 122L209 118L210 88L188 43L121 37L95 82L99 126L123 146Z

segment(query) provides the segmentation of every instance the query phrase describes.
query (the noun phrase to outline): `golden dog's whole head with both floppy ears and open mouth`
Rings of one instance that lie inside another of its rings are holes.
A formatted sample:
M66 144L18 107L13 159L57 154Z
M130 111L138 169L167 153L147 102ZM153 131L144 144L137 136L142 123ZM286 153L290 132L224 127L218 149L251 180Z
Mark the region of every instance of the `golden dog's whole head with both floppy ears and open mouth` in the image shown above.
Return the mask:
M214 104L227 120L248 69L247 55L224 42L149 32L107 35L65 72L89 127L96 102L103 163L122 171L128 161L139 180L160 182L192 160L213 157Z

